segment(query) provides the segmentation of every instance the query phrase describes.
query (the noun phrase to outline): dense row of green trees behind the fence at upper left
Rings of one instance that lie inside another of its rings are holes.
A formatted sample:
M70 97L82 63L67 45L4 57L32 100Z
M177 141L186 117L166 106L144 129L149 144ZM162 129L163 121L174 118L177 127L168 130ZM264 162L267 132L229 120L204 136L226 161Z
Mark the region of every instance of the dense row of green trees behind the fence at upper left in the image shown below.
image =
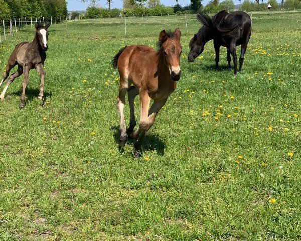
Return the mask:
M66 16L66 0L0 0L0 20Z

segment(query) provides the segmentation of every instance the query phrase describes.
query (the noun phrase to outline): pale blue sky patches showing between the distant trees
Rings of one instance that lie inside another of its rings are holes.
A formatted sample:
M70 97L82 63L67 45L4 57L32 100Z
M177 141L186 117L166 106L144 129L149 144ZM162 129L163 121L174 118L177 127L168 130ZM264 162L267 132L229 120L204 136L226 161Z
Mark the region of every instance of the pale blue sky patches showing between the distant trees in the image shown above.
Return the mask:
M161 0L165 6L174 6L176 3L176 0ZM202 4L205 6L209 0L202 0ZM86 10L87 7L89 6L89 2L87 3L82 3L80 0L67 0L67 9L68 11L76 11L76 10ZM181 6L186 6L190 4L190 0L179 0L178 3ZM111 8L118 8L121 9L123 4L123 0L112 0L111 2ZM239 4L239 0L234 0L234 4ZM99 0L98 5L101 7L108 7L106 0Z

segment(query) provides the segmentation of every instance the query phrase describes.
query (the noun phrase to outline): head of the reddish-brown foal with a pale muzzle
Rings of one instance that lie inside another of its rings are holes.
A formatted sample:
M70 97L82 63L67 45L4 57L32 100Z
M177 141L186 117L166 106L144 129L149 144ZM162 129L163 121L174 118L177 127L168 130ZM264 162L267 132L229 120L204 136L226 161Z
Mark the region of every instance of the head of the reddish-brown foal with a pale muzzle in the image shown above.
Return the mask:
M162 30L159 35L159 51L164 55L171 77L174 81L180 79L180 55L182 47L180 44L181 32L177 28L174 33Z

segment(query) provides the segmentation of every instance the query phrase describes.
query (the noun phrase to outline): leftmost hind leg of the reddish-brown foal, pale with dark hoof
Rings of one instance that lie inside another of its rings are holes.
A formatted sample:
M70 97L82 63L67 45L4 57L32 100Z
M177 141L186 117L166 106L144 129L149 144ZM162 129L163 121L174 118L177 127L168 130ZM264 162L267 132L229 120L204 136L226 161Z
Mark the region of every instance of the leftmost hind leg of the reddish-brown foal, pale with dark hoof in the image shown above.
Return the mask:
M119 138L119 148L123 148L126 142L126 127L124 121L124 103L125 103L125 94L128 89L128 78L124 78L120 76L120 86L119 86L119 94L117 96L117 109L119 111L119 119L120 119L120 138Z

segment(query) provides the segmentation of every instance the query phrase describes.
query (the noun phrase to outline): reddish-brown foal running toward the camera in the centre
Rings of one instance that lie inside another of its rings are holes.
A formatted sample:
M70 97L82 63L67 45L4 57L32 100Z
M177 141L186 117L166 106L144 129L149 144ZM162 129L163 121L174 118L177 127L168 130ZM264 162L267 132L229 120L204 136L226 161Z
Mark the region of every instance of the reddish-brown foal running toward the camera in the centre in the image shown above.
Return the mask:
M158 111L166 103L167 98L176 89L176 81L180 79L180 44L181 32L177 28L174 32L162 30L159 35L159 50L156 51L145 45L131 45L119 50L112 60L113 67L117 67L120 75L117 108L120 117L119 147L123 148L126 134L137 139L134 158L141 152L142 140L153 125ZM133 86L131 86L133 85ZM123 108L125 94L128 93L130 107L130 123L126 130ZM134 114L134 99L140 95L140 123L136 126ZM149 109L150 100L154 100Z

